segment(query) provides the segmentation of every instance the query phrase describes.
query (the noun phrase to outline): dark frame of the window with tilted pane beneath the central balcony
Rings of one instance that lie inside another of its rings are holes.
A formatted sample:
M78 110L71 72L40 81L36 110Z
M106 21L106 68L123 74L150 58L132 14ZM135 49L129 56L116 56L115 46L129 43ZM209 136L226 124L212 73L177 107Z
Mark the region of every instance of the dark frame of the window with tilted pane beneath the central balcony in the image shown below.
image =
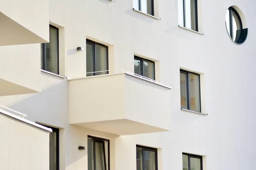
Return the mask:
M110 140L108 139L103 139L95 136L90 136L87 135L87 138L92 138L93 139L93 170L96 169L96 150L95 150L95 142L100 142L103 143L103 154L104 154L104 161L105 161L105 170L110 170ZM107 169L107 162L106 162L106 153L105 153L105 141L108 143L108 169Z

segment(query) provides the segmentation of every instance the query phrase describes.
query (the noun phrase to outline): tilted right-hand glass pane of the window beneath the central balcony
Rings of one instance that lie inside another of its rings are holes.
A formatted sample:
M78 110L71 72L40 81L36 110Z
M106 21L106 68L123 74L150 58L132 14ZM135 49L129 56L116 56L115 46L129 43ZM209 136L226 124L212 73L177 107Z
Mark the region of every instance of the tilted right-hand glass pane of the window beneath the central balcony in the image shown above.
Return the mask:
M96 170L105 170L104 143L95 142Z

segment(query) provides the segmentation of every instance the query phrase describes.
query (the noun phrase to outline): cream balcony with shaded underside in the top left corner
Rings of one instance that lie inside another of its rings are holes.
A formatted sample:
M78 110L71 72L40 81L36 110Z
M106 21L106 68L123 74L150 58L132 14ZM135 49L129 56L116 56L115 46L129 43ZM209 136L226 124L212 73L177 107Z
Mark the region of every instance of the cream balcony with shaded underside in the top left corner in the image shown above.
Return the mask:
M49 41L49 0L1 0L0 46Z

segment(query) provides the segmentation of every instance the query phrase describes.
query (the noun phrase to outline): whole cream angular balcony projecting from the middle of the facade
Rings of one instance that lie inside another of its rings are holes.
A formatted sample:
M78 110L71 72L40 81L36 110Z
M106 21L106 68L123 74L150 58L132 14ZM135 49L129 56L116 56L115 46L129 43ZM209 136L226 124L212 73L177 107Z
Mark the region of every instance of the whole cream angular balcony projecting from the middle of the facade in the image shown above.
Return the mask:
M116 135L169 131L171 88L128 71L69 79L70 124Z

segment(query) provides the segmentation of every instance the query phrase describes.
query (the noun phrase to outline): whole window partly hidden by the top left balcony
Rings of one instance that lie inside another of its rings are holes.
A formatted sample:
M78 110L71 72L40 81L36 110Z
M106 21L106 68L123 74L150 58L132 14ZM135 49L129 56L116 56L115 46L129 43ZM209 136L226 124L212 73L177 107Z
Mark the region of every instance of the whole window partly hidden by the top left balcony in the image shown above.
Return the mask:
M49 26L49 42L41 44L41 69L59 74L58 28Z

